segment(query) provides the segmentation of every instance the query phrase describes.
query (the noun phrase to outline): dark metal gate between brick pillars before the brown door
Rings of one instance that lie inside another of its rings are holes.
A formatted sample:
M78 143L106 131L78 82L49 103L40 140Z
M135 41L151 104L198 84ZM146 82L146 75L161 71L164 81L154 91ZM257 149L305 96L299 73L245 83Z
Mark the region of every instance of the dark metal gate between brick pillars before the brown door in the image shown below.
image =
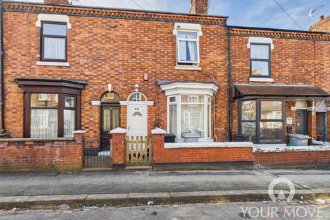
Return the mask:
M107 137L108 138L108 137ZM109 138L110 139L110 138ZM104 145L104 142L109 144ZM102 147L101 147L101 143ZM112 141L86 138L84 147L85 168L109 168L112 166Z

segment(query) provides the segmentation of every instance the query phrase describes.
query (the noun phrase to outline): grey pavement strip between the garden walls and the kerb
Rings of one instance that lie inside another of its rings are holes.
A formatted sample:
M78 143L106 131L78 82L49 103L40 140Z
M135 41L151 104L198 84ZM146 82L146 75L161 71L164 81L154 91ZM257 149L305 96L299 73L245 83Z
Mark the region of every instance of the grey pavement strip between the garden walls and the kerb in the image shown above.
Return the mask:
M296 188L330 188L330 170L197 170L0 174L0 196L267 190L276 177Z

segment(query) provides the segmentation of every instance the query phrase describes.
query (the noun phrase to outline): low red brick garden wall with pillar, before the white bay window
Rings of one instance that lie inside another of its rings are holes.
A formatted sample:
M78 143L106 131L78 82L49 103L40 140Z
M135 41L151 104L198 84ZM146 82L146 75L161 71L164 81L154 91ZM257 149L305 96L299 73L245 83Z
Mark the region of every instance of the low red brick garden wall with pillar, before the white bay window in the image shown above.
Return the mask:
M164 148L164 135L153 135L153 162L249 162L253 161L252 147Z

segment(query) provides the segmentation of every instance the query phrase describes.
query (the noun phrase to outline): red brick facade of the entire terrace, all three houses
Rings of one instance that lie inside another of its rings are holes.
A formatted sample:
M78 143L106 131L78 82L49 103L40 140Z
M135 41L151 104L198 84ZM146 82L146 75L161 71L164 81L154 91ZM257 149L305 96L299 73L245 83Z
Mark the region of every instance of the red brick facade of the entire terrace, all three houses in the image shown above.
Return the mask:
M36 61L40 60L41 28L36 27L39 13L69 16L72 25L67 34L69 67L36 65ZM139 91L148 101L154 101L153 106L148 106L150 135L156 121L163 129L167 126L166 96L157 83L162 80L201 81L219 85L215 99L212 98L211 133L218 142L228 141L229 39L225 21L225 17L208 15L6 2L3 14L5 129L12 137L23 137L23 94L14 83L17 77L87 81L88 85L82 91L80 128L87 131L87 140L100 137L100 106L91 105L91 101L100 100L109 83L122 101L135 91L135 84L139 85ZM175 69L175 22L201 25L200 71ZM330 92L327 83L330 34L311 32L232 28L233 84L250 83L250 50L247 47L250 36L272 38L271 74L274 84L316 85ZM148 73L147 81L143 79L144 73ZM287 102L286 115L294 115L290 109L294 103L294 100ZM234 134L237 133L236 102L233 102L232 109ZM314 137L316 126L313 117L310 135ZM126 128L124 105L121 106L120 119L120 126Z

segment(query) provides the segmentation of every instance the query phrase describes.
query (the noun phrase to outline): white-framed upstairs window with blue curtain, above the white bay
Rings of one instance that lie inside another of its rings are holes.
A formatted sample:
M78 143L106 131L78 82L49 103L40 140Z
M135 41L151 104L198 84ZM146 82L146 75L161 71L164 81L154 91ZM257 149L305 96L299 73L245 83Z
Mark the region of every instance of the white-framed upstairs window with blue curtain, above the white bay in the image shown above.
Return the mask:
M199 64L198 32L177 32L177 63L179 65Z

